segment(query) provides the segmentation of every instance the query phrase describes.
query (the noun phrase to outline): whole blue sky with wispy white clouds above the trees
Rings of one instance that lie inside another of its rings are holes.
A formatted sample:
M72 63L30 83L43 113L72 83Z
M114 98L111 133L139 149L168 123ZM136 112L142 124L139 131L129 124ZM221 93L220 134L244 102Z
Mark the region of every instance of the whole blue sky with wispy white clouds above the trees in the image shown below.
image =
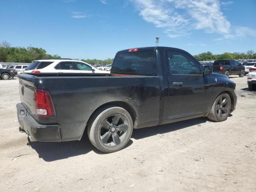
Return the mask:
M62 58L106 59L128 48L256 52L256 0L0 0L0 42Z

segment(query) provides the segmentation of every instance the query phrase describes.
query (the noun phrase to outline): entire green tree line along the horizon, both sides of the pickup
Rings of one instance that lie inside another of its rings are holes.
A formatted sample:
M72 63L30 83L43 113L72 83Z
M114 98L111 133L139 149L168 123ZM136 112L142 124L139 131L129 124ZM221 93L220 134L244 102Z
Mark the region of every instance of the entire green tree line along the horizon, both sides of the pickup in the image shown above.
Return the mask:
M194 56L199 61L221 60L221 59L256 59L256 52L250 50L246 53L229 53L212 54L212 52L204 52ZM36 47L12 47L10 43L3 41L0 45L0 62L17 62L30 63L33 60L40 60L46 58L60 58L58 55L50 55L46 50ZM79 60L79 59L77 59ZM113 59L82 59L82 61L95 64L112 64Z

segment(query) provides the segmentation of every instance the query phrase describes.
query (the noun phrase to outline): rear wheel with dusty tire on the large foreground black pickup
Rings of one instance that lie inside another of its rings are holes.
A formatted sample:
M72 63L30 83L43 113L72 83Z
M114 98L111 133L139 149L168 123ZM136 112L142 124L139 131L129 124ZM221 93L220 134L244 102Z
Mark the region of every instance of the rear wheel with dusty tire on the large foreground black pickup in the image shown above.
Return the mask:
M132 136L132 130L132 117L125 109L116 106L100 108L88 123L90 142L105 153L124 148Z

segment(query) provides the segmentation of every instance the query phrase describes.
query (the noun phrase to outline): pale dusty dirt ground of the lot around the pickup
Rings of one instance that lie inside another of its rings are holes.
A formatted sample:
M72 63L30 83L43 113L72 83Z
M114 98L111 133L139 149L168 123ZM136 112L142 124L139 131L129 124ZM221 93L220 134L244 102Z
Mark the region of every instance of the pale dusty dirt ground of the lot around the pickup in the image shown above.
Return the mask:
M18 79L0 80L0 191L256 191L256 92L237 84L225 122L197 118L134 130L123 150L81 141L28 142L18 131Z

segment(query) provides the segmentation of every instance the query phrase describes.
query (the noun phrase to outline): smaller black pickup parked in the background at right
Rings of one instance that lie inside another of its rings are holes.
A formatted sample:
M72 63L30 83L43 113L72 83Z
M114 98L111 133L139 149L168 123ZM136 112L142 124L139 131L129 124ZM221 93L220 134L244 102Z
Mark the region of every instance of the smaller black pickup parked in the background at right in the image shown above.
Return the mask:
M244 66L236 60L216 60L212 66L214 73L226 76L239 75L239 77L244 77L245 75Z

